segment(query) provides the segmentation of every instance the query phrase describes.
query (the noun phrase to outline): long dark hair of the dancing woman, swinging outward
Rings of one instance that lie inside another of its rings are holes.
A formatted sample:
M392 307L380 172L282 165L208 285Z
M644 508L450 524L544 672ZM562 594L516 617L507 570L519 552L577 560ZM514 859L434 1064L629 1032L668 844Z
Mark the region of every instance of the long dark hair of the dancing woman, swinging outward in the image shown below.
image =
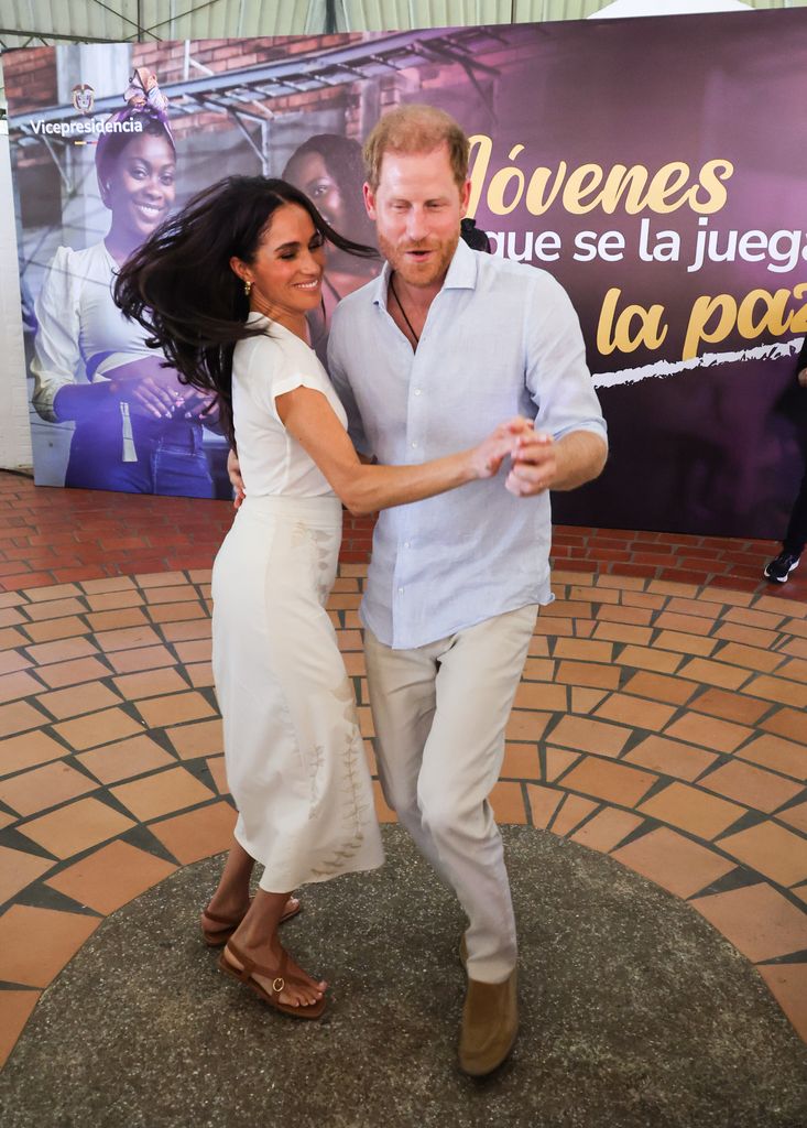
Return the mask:
M183 384L216 396L230 442L232 354L239 341L264 332L246 324L249 298L230 259L255 261L272 215L284 204L304 208L317 231L340 250L362 258L378 255L335 231L308 196L285 180L229 176L166 220L115 282L115 303L143 326L147 344L162 350Z

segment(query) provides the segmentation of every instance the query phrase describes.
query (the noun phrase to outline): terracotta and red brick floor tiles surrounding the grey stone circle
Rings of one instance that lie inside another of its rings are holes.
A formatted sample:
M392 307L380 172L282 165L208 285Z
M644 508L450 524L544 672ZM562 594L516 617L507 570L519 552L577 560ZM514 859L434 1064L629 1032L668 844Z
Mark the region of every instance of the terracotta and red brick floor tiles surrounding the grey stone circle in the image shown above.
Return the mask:
M0 474L0 1060L104 916L228 845L209 596L230 517ZM348 522L330 610L374 768L369 544ZM760 583L773 547L557 530L493 803L689 900L807 1039L807 575Z

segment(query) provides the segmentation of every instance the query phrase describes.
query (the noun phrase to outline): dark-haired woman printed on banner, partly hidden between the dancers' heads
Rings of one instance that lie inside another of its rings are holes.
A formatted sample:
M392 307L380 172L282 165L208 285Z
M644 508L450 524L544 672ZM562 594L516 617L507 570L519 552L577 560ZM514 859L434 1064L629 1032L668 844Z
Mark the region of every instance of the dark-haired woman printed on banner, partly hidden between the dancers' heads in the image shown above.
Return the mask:
M375 226L362 196L364 158L358 141L338 133L317 133L289 159L283 179L304 192L322 219L354 243L375 245ZM379 261L358 258L332 244L326 247L322 303L309 321L314 347L325 355L327 332L337 302L379 272Z

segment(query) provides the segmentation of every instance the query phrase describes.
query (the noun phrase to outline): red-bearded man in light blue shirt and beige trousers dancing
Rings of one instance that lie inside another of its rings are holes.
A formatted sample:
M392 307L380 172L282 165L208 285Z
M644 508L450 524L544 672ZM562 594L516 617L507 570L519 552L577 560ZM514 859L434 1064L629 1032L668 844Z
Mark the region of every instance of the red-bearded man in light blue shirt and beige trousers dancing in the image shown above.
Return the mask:
M362 603L387 802L454 889L469 927L460 1067L490 1073L517 1031L516 938L488 802L538 607L550 490L605 462L605 424L568 297L543 271L460 240L468 138L432 106L378 123L364 201L387 259L334 316L328 362L356 449L420 462L491 422L534 420L506 478L381 514Z

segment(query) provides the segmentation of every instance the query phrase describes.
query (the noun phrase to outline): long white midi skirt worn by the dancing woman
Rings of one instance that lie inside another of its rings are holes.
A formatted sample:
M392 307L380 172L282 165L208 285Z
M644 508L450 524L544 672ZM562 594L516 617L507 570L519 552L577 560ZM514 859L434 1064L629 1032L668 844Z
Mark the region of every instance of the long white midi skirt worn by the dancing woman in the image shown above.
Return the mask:
M290 892L383 862L353 687L325 603L336 497L247 497L213 567L213 673L236 838Z

